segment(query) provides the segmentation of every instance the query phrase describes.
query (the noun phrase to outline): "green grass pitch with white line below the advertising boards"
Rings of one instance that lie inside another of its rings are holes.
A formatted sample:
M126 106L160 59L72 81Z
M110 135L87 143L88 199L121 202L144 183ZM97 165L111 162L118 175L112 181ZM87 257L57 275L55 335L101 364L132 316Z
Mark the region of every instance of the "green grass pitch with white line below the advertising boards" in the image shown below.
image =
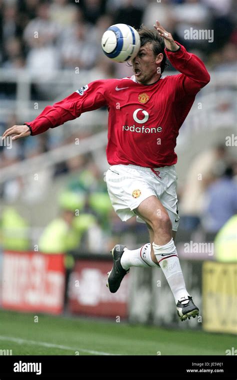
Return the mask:
M0 350L12 355L225 355L236 337L0 310ZM183 322L185 323L185 322Z

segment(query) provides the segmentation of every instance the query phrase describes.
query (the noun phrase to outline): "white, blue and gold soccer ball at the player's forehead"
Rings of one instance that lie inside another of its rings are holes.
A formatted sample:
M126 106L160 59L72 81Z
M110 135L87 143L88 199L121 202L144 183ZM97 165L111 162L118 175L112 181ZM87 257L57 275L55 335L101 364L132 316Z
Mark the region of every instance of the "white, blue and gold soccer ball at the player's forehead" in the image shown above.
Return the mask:
M116 62L132 60L140 49L138 32L126 24L115 24L103 34L101 47L104 54Z

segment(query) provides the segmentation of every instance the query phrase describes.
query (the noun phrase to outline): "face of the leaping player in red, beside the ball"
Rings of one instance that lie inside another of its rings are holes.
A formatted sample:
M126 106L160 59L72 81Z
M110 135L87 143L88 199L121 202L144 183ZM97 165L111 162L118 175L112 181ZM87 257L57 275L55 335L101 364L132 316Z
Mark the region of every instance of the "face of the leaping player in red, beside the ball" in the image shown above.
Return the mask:
M157 65L162 61L163 54L160 53L156 57L152 51L151 43L142 46L132 60L133 71L138 83L151 84L158 80L160 74L157 72Z

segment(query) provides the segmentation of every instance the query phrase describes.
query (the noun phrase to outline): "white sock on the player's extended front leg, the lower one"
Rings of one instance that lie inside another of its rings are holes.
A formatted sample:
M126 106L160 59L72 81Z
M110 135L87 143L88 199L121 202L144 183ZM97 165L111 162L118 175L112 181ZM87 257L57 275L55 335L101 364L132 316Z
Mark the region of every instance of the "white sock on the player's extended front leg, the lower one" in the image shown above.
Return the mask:
M189 294L187 293L185 287L182 270L173 239L163 246L158 246L154 242L152 243L152 246L159 266L162 269L173 293L175 303L177 303L178 300L187 299Z

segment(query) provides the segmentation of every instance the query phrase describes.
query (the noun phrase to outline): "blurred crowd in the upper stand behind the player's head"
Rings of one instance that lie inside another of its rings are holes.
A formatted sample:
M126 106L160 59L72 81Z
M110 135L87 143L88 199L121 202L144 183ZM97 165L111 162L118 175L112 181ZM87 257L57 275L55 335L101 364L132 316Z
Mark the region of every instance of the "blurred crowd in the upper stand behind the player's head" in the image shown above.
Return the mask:
M0 0L0 67L32 73L56 69L102 70L120 76L100 48L112 24L152 28L158 19L173 37L210 66L236 67L234 0ZM213 41L185 39L185 31L213 31Z

